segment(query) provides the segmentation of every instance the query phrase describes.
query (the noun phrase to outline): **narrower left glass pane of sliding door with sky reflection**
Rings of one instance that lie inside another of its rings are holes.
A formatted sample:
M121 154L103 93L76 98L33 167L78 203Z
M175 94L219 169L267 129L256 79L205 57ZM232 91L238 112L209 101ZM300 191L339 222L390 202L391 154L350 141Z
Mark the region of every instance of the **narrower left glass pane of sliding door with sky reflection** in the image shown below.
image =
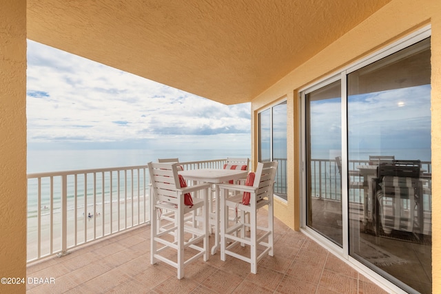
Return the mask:
M341 83L306 94L307 226L342 246Z

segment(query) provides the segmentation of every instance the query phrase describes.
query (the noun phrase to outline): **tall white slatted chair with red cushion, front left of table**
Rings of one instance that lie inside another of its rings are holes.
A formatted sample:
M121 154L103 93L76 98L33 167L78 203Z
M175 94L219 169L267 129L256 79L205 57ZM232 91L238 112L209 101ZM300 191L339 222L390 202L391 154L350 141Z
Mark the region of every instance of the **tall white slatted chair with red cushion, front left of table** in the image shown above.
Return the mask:
M185 266L198 258L203 257L204 261L209 258L207 196L210 185L185 187L178 176L177 165L153 162L148 164L152 184L150 262L156 264L159 260L174 266L178 279L181 279ZM201 195L196 197L196 193ZM185 205L187 196L192 196L192 205ZM161 219L160 211L163 209L174 213L174 221L171 222L171 227L162 224L158 229L157 222ZM201 222L185 222L185 216L194 215L198 211L201 213L198 216L202 219ZM176 236L174 240L169 234L171 232ZM193 250L189 251L189 248Z

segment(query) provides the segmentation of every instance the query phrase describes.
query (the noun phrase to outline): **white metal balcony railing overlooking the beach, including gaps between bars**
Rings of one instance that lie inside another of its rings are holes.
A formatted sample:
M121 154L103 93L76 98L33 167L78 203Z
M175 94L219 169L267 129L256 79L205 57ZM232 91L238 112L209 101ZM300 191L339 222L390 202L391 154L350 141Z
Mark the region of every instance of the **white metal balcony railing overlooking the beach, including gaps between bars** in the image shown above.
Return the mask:
M226 159L180 162L223 168ZM150 222L147 165L28 174L28 262Z

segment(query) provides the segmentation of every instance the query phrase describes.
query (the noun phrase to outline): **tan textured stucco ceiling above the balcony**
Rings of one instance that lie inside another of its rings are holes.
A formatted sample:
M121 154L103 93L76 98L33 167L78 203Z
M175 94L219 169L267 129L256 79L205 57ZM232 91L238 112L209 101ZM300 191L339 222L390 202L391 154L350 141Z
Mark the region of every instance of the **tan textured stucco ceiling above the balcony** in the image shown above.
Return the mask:
M234 104L389 1L28 0L28 39Z

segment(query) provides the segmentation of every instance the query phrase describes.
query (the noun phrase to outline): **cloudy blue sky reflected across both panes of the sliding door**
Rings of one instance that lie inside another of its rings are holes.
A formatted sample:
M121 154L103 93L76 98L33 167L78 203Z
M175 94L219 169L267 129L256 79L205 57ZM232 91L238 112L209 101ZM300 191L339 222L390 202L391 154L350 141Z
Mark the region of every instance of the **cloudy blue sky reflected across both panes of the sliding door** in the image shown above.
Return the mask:
M349 96L348 142L353 148L427 148L431 144L430 85ZM311 146L341 145L340 99L311 103Z

